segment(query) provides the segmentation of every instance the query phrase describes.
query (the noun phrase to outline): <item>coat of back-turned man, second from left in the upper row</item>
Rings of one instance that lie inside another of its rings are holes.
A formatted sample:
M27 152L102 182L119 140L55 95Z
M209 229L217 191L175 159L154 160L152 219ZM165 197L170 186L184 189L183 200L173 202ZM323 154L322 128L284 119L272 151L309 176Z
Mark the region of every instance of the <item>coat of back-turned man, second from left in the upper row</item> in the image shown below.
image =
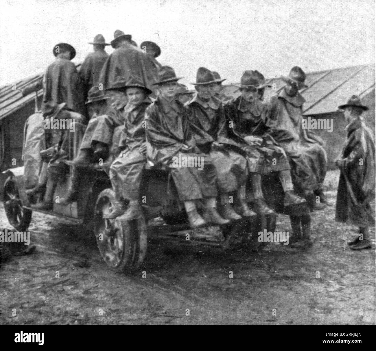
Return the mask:
M85 98L92 86L96 86L99 81L100 72L108 59L105 50L93 51L85 57L80 68L80 78L85 92Z

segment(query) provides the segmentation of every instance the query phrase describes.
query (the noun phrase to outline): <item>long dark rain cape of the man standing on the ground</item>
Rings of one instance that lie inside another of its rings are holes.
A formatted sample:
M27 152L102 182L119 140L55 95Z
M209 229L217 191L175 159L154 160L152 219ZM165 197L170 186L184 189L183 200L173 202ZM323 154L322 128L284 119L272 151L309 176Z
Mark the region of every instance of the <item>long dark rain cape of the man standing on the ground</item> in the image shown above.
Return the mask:
M374 226L370 200L375 196L375 142L372 131L361 119L347 127L347 137L342 150L345 159L343 171L351 183L353 193L363 210L354 208L346 180L342 174L338 184L335 218L358 227Z

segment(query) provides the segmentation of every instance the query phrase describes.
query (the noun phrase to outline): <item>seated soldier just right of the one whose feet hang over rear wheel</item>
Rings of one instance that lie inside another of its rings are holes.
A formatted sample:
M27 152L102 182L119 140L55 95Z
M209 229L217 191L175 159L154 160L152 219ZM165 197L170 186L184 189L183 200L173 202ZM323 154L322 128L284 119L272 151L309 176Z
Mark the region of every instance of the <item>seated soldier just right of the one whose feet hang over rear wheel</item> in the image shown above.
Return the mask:
M227 224L229 221L216 208L215 168L210 157L196 148L186 110L176 99L180 78L169 66L162 66L158 74L158 97L146 109L145 117L148 163L170 170L192 228L206 223ZM188 158L196 160L196 164L187 164ZM195 200L198 199L205 202L203 217L197 212Z

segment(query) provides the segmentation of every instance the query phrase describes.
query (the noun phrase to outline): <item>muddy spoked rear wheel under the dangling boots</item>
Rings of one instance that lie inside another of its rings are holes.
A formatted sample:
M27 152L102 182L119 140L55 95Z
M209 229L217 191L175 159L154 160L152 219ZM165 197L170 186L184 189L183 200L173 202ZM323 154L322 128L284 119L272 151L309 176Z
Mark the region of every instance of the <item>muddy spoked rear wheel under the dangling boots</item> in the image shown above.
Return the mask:
M100 255L106 264L119 272L135 271L144 261L147 249L147 227L142 216L131 221L106 219L112 212L115 193L103 190L96 201L94 234Z

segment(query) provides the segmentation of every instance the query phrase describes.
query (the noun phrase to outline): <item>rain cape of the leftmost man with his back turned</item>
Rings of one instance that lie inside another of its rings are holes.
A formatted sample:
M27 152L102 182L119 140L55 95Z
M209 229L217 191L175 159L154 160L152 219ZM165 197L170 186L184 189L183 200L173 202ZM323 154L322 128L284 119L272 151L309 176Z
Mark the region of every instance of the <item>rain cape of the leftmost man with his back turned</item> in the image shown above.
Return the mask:
M82 83L76 66L67 59L58 57L47 67L43 81L43 102L65 102L66 108L85 114L85 99Z

